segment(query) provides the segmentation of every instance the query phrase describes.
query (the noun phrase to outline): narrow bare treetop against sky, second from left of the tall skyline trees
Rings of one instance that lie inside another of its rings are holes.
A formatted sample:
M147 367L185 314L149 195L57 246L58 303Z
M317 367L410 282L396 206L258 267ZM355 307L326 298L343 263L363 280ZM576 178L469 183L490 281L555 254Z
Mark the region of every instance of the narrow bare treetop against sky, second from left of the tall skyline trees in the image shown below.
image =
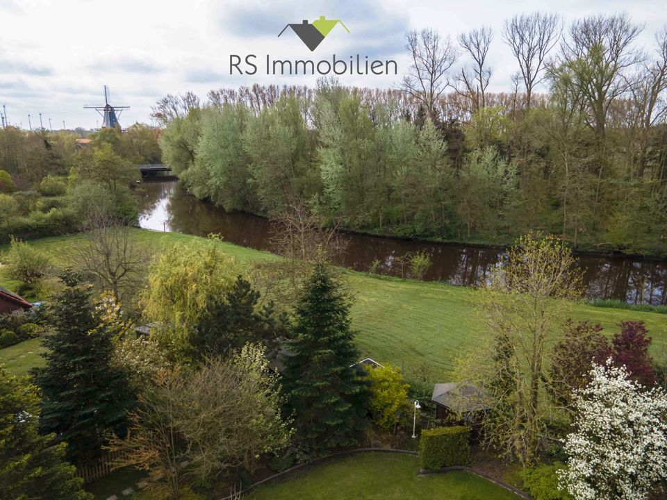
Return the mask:
M473 29L468 33L459 35L459 45L470 54L475 64L472 67L472 74L466 72L466 68L461 68L459 81L466 87L472 103L472 112L486 106L485 92L488 87L488 81L491 78L491 68L486 66L486 55L488 48L493 40L493 30L491 26L482 26L480 29Z

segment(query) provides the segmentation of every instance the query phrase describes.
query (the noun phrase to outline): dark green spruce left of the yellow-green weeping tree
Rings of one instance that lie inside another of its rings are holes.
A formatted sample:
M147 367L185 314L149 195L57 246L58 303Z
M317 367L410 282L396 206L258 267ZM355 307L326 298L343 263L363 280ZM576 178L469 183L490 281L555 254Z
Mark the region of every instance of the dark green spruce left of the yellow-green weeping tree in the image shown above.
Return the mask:
M56 433L67 442L67 457L81 462L99 454L109 433L124 433L134 398L125 374L111 363L111 334L88 287L72 276L65 282L47 310L52 328L42 342L47 364L33 376L42 390L42 433Z

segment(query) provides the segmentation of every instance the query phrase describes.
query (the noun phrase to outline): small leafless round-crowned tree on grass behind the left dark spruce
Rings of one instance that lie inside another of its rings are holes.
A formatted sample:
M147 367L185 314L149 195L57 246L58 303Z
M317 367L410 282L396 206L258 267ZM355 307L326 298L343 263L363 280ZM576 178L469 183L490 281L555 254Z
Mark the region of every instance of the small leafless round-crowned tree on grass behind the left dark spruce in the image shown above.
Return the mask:
M131 297L142 283L147 256L133 240L129 226L98 214L89 217L81 229L85 237L75 243L81 270L99 288L109 290L116 301Z

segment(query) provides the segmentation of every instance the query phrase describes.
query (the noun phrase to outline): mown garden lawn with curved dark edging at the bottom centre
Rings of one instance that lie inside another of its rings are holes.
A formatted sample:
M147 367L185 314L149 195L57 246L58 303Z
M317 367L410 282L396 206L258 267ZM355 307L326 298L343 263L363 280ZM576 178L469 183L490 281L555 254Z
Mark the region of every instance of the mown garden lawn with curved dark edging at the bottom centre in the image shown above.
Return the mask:
M418 476L415 456L360 453L315 465L308 471L244 495L248 500L516 500L518 495L467 472Z

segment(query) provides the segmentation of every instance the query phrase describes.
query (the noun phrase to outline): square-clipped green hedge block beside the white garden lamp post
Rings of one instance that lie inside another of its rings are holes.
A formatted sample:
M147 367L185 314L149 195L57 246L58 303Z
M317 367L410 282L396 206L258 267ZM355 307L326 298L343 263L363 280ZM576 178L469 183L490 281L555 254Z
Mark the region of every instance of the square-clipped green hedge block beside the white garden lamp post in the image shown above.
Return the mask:
M422 431L419 462L422 469L467 465L470 463L470 428L452 426Z

